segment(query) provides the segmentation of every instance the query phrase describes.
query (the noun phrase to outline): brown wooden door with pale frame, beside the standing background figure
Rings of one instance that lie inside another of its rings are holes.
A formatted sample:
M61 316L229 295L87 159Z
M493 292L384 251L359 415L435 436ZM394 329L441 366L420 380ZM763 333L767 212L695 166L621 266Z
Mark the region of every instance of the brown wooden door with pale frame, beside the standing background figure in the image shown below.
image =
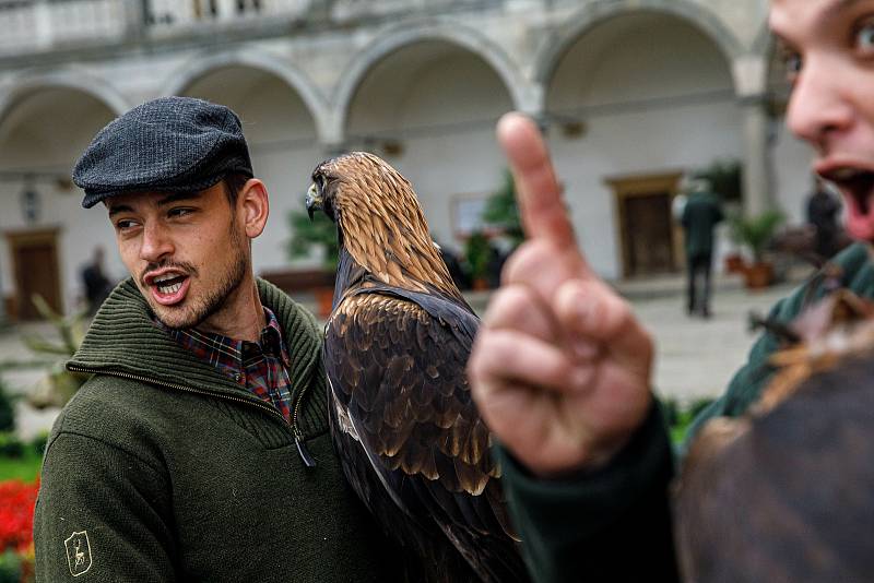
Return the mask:
M672 273L683 264L682 233L671 216L681 172L607 180L616 204L623 275Z

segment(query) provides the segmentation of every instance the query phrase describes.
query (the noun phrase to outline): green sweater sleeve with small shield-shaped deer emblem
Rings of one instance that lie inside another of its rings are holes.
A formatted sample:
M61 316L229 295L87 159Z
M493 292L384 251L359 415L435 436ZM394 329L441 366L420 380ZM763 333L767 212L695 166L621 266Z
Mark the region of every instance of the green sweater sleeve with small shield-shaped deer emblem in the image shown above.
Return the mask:
M163 473L135 455L58 435L34 514L37 581L174 581L167 491Z

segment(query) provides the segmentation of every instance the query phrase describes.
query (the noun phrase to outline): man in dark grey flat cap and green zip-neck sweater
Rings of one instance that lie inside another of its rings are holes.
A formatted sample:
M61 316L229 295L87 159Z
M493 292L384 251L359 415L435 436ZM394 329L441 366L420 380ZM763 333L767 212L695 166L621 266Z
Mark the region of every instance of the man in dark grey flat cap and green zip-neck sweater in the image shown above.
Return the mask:
M252 273L269 203L236 115L146 103L73 179L130 278L67 365L91 378L48 441L37 579L392 580L333 454L316 322Z

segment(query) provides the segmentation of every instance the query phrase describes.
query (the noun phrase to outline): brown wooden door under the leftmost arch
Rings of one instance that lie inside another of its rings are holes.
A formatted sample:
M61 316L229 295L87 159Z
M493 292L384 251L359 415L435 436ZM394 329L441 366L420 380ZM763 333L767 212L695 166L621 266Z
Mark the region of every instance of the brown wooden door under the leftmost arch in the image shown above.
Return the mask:
M36 294L60 313L58 229L8 233L7 240L15 277L14 317L20 321L40 318L31 299Z

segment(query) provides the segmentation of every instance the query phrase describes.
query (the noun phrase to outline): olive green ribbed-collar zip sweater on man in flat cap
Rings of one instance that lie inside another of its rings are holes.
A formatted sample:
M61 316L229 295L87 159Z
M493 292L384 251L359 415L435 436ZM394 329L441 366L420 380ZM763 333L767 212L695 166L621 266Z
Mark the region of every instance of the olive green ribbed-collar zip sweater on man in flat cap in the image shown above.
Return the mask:
M38 581L395 579L333 452L319 330L258 287L292 358L292 424L155 326L131 281L106 300L68 362L93 376L48 442Z

